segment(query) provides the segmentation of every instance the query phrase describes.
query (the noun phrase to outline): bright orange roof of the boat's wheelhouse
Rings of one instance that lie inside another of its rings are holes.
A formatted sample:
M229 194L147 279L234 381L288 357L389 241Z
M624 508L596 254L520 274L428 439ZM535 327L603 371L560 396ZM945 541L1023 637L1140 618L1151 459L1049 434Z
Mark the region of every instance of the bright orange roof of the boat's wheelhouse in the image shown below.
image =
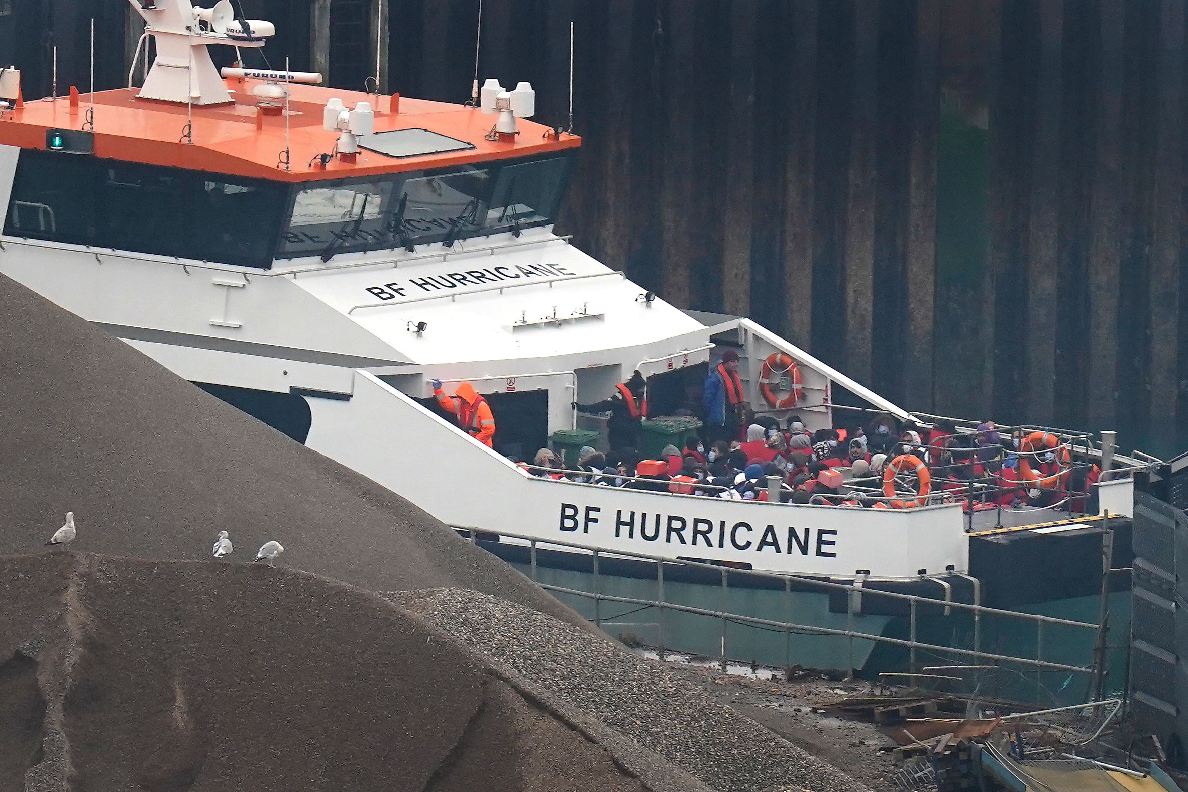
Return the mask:
M235 103L194 106L192 142L182 142L187 106L137 99L138 89L100 91L95 104L95 156L150 165L266 178L280 182L334 179L348 176L419 171L428 167L465 165L476 161L524 157L581 144L581 138L562 133L555 138L549 127L517 119L520 133L511 142L486 139L495 116L478 108L446 102L336 90L320 85L291 83L289 101L290 170L278 163L285 148L284 115L263 115L257 110L252 85L258 80L225 81ZM354 163L333 159L324 167L316 160L329 153L337 132L322 128L322 116L329 99L341 99L348 108L371 102L375 112L375 132L422 127L474 144L474 148L392 158L372 151L359 152ZM397 113L391 104L397 103ZM0 144L21 148L45 148L48 129L81 129L90 107L90 95L83 94L76 107L59 97L25 102L20 109L0 119ZM259 116L259 118L258 118ZM261 126L258 128L258 123Z

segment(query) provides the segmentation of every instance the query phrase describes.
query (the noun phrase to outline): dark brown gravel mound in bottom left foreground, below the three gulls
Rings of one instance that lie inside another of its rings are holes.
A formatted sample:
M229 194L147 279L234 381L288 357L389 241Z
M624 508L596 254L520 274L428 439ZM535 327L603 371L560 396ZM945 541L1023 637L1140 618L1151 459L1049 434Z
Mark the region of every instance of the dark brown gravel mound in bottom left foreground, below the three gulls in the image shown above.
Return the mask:
M0 557L0 602L5 792L701 788L424 619L307 572L53 551Z

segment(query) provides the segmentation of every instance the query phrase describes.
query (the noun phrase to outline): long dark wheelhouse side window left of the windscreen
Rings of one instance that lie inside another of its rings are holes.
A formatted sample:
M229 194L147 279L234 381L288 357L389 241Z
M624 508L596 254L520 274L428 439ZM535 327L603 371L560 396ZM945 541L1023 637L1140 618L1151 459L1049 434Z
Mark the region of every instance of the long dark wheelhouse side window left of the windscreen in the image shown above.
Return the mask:
M267 268L287 186L21 151L5 234Z

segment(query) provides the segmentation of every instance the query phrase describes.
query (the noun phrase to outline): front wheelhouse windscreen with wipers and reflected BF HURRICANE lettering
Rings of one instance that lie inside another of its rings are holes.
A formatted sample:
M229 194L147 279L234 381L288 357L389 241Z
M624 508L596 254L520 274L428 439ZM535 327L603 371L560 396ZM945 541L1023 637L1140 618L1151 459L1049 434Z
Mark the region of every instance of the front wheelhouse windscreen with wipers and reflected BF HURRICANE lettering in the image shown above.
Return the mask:
M392 249L554 222L571 156L315 182L296 191L277 258Z

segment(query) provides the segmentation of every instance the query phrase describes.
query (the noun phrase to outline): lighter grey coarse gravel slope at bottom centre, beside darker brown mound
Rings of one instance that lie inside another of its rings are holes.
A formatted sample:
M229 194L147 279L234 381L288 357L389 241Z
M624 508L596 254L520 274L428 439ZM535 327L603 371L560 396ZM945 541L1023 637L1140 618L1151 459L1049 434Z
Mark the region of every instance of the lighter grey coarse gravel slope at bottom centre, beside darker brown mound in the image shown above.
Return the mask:
M720 792L864 792L836 768L606 639L463 589L384 595Z

